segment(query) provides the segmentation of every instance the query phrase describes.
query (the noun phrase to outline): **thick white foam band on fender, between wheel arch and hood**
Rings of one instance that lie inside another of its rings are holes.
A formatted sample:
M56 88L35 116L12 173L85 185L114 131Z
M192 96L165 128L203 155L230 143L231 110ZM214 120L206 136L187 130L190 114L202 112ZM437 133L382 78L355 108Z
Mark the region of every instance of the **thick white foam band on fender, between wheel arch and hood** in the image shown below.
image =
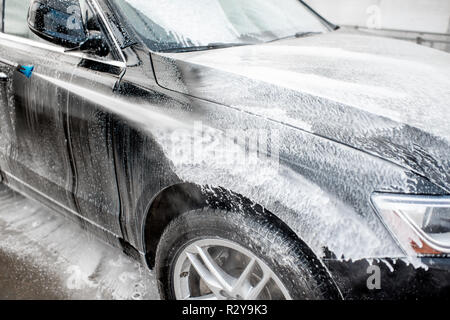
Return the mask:
M242 146L230 145L229 137L218 130L204 127L202 131L178 130L171 135L165 131L153 132L166 155L176 155L171 158L174 170L183 180L219 185L250 199L258 199L264 206L278 202L292 209L297 214L290 218L290 225L297 227L295 231L304 236L303 240L319 256L325 245L337 257L347 260L401 254L389 239L380 238L380 234L369 227L374 224L375 217L363 219L291 169L278 168L269 160L256 159L249 163ZM179 137L174 138L177 134ZM185 152L185 144L177 143L186 136L204 144L215 141L216 154L232 153L235 161L227 163L213 153L201 152L192 163L191 154ZM179 151L174 152L177 148Z

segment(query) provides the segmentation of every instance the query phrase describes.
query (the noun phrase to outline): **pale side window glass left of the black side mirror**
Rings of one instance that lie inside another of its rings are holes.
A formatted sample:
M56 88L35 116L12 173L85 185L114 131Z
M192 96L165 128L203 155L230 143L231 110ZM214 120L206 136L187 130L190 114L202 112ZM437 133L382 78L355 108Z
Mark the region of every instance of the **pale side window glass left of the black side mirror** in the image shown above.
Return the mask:
M27 15L30 0L3 0L4 3L4 33L46 42L36 36L28 28Z

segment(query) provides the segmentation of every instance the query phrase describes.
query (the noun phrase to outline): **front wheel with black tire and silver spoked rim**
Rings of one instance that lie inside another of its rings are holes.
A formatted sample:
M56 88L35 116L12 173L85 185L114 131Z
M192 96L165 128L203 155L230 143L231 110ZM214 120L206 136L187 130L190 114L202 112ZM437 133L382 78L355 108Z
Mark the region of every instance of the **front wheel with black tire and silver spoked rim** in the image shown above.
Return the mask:
M227 283L237 283L246 266L256 259L253 267L249 267L252 271L245 287L236 289L240 295L234 289L220 290L214 285L217 281L209 281L215 273L203 269L208 266L205 262L208 259L202 252L215 259L218 270L233 276ZM199 261L202 268L196 268ZM155 269L161 298L168 300L339 298L334 283L313 252L292 233L283 231L280 223L255 213L200 209L182 214L169 224L161 237ZM274 275L266 287L258 296L249 293L258 291L257 285L265 279L266 271Z

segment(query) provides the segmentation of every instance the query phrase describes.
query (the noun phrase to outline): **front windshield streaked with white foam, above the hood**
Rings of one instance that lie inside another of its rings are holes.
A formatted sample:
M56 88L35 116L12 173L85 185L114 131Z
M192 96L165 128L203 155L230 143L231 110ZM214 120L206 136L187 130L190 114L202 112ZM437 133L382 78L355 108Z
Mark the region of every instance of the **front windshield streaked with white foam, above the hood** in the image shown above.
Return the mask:
M257 44L326 32L298 0L114 0L155 51Z

